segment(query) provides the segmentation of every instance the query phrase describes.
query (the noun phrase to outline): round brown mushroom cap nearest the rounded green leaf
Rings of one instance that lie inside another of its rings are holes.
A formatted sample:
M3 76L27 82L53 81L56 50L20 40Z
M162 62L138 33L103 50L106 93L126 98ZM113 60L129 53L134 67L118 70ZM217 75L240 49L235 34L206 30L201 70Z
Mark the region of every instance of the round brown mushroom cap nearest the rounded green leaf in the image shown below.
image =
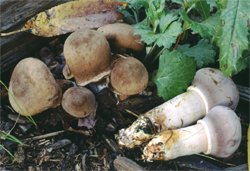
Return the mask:
M111 85L118 94L134 95L148 84L148 72L136 58L119 58L111 71Z

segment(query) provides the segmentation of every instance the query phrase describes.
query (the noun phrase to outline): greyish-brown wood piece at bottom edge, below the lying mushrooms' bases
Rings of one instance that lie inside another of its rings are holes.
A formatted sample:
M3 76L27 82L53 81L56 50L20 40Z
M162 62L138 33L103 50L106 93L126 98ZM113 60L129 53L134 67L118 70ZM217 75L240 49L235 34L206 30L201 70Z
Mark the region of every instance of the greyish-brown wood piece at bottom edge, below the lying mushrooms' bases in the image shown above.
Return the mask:
M135 163L134 161L126 158L117 156L114 160L114 167L116 170L126 170L126 171L146 171L143 167Z

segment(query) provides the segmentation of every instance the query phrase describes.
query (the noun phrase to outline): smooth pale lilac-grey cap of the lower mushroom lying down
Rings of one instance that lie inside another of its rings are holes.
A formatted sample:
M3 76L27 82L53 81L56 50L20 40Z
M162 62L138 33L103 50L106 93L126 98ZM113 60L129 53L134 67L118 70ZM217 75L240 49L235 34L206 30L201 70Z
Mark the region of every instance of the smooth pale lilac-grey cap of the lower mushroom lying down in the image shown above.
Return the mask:
M229 107L216 106L197 123L206 128L207 154L229 157L238 149L241 142L240 119Z

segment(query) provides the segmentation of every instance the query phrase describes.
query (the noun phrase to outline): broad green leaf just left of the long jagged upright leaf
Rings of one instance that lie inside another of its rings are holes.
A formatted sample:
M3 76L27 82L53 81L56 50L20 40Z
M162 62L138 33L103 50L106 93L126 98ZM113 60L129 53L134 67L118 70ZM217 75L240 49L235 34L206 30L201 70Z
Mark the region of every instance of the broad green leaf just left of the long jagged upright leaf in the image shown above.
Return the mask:
M201 37L205 39L212 38L220 26L220 13L217 12L214 15L210 16L208 19L202 22L196 22L191 20L185 11L181 12L182 19L184 20L187 28L191 28L194 34L198 33Z

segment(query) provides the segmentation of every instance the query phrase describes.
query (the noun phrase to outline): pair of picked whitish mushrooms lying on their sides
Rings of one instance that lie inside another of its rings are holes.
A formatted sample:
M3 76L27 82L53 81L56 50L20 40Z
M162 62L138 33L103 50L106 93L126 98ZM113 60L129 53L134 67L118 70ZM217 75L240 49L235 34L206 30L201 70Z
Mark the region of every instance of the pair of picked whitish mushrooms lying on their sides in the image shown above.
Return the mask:
M134 148L149 142L143 151L147 160L170 160L200 152L227 157L241 140L239 118L233 111L238 101L239 92L229 77L217 69L200 69L187 92L121 129L118 143ZM197 125L186 127L196 121Z

